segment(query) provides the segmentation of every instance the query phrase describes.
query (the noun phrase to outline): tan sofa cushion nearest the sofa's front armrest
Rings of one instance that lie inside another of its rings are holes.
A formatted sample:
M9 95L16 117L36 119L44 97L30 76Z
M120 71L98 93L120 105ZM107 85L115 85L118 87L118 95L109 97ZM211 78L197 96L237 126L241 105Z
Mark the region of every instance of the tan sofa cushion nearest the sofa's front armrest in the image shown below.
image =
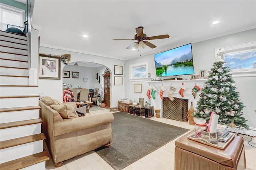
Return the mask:
M78 114L76 113L74 107L72 106L62 106L62 105L52 104L50 107L58 111L58 113L61 115L63 119L78 117Z

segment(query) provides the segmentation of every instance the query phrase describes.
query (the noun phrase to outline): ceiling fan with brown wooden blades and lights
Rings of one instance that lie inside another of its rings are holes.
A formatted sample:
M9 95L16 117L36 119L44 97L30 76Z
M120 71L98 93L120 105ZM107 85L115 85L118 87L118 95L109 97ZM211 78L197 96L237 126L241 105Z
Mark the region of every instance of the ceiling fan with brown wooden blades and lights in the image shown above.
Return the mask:
M136 28L136 33L134 35L134 39L113 39L113 40L137 40L137 42L132 43L130 46L128 46L126 49L130 49L132 47L138 48L139 46L142 48L145 48L146 46L150 48L156 48L156 45L143 40L152 40L152 39L163 39L163 38L169 38L170 36L168 34L166 35L157 35L153 37L147 37L146 34L143 33L143 27Z

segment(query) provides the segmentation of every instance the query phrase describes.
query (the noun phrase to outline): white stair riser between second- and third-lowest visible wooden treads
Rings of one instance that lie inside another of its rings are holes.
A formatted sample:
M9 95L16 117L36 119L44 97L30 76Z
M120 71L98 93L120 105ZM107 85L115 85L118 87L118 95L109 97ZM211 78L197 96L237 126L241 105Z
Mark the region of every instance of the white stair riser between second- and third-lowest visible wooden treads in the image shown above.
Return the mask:
M7 141L41 133L41 123L0 129L0 140Z

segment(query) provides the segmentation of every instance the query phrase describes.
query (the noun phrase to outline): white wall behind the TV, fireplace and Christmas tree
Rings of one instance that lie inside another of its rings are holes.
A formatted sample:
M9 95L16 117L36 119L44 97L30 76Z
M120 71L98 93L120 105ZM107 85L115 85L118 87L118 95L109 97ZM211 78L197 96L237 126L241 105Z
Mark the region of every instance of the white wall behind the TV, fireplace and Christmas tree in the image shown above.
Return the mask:
M226 35L223 37L218 37L215 39L209 39L206 41L201 41L197 43L192 43L192 53L193 53L193 61L194 61L194 71L195 74L199 74L199 70L202 69L208 69L212 67L212 64L214 63L214 56L215 52L214 50L216 48L220 47L227 47L231 45L238 45L242 43L248 43L256 41L256 29L251 29L248 31L243 31L240 33L235 33L231 35ZM175 47L179 47L179 45ZM169 49L175 48L170 47ZM166 50L169 50L166 49ZM124 76L125 80L124 83L125 91L126 91L126 97L127 98L135 98L136 102L138 102L139 98L144 98L145 101L148 100L146 96L147 88L148 88L148 82L146 81L137 81L137 82L130 82L128 80L129 78L129 65L134 63L143 63L145 61L148 61L148 72L151 74L152 78L156 77L156 70L154 65L154 54L152 55L146 55L142 57L138 57L136 59L130 59L125 61L125 71ZM184 79L188 79L188 76L183 76ZM244 115L246 119L248 119L247 124L250 127L256 127L256 124L254 123L254 120L256 120L256 114L254 110L256 109L256 75L253 77L234 77L234 80L236 81L236 87L237 92L240 93L240 99L241 102L244 103L246 106L243 109ZM142 93L134 93L133 84L134 83L141 83L142 84ZM150 86L152 86L154 82L150 82ZM181 86L182 83L180 83ZM164 96L167 97L168 90L171 86L171 83L169 85L165 85L165 92ZM157 92L160 92L160 86L158 84L158 90ZM180 90L180 88L176 89L177 91ZM186 91L185 91L186 92ZM159 93L156 94L157 98L159 99ZM191 94L192 96L192 94ZM158 100L156 99L156 100ZM153 100L153 99L151 99ZM155 101L154 101L155 102ZM152 102L152 103L154 103ZM189 104L190 106L190 104ZM159 107L159 106L158 106Z

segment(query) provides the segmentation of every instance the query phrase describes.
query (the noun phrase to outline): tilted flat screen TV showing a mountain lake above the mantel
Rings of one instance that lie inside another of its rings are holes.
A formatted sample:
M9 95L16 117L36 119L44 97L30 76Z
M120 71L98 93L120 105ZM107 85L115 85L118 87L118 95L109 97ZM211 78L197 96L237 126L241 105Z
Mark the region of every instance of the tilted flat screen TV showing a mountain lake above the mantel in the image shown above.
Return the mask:
M154 55L156 76L194 74L191 43Z

